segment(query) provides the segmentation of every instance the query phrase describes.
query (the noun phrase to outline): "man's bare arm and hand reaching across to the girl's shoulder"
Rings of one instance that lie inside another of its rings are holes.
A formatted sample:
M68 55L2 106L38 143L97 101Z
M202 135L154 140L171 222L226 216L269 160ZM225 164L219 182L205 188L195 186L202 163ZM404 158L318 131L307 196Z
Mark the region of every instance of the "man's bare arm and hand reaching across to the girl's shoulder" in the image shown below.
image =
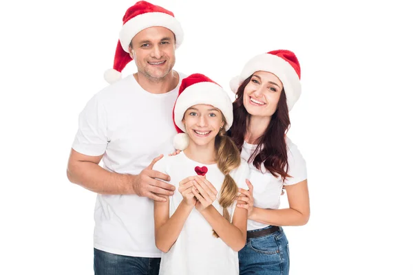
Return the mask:
M78 184L93 192L103 195L128 195L136 194L141 197L149 197L157 201L165 201L160 195L172 195L174 186L167 184L169 176L152 170L162 155L152 160L151 164L139 175L124 175L112 173L98 164L103 155L89 156L78 153L72 149L67 164L67 178L74 184Z

